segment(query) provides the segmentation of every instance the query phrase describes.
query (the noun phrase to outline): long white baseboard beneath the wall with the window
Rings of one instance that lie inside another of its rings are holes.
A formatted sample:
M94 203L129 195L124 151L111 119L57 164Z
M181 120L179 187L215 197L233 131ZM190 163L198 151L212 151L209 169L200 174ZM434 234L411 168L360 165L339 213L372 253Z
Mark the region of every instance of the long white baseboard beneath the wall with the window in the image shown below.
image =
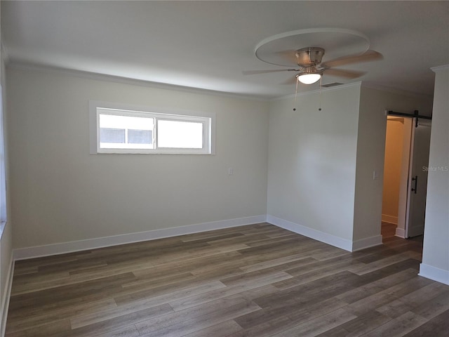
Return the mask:
M222 228L252 225L254 223L264 223L266 220L267 217L265 215L250 216L247 218L220 220L210 223L198 223L181 227L164 228L161 230L149 230L147 232L114 235L112 237L98 237L95 239L62 242L60 244L48 244L45 246L14 249L13 256L14 260L23 260L26 258L72 253L74 251L85 251L87 249L96 249L107 246L116 246L119 244L130 244L133 242L162 239L164 237L175 237L177 235L206 232L208 230L220 230Z

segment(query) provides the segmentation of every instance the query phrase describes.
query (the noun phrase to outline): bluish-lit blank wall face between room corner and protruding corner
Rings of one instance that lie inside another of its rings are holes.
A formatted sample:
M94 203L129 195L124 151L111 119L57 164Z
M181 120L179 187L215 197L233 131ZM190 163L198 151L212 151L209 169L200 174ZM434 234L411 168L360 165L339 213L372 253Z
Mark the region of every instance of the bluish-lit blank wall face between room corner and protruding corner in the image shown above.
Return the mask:
M274 101L270 222L351 250L360 84Z

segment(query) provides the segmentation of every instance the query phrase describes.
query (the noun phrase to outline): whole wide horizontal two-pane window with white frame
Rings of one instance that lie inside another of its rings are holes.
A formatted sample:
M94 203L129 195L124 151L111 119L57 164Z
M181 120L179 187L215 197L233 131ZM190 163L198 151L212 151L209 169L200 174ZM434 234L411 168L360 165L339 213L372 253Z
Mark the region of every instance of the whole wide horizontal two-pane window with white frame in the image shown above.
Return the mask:
M91 153L213 154L215 114L90 102Z

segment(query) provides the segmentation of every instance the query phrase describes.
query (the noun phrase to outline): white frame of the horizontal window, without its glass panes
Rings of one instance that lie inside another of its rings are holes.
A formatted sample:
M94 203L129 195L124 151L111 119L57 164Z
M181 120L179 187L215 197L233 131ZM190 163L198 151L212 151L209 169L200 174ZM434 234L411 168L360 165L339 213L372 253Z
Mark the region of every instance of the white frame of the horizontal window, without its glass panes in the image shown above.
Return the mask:
M119 149L100 147L100 114L107 110L107 114L126 115L133 117L154 118L153 142L154 149ZM166 148L157 146L157 121L173 120L203 124L203 148ZM124 105L98 100L89 101L90 124L90 152L91 154L119 153L119 154L215 154L215 113L192 112L189 110L171 110L160 107L142 107Z

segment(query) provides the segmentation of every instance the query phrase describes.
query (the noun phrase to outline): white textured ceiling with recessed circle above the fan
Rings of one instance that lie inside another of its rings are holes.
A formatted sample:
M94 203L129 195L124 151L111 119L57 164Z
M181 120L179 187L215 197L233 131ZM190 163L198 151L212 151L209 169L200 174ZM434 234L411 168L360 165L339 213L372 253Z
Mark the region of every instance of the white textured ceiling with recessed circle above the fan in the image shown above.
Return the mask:
M1 1L9 65L64 68L258 98L295 91L290 72L255 56L261 41L338 27L370 39L383 60L346 65L363 81L432 95L449 64L449 1ZM292 49L303 46L291 46ZM323 58L326 61L326 55ZM316 89L300 86L300 91Z

